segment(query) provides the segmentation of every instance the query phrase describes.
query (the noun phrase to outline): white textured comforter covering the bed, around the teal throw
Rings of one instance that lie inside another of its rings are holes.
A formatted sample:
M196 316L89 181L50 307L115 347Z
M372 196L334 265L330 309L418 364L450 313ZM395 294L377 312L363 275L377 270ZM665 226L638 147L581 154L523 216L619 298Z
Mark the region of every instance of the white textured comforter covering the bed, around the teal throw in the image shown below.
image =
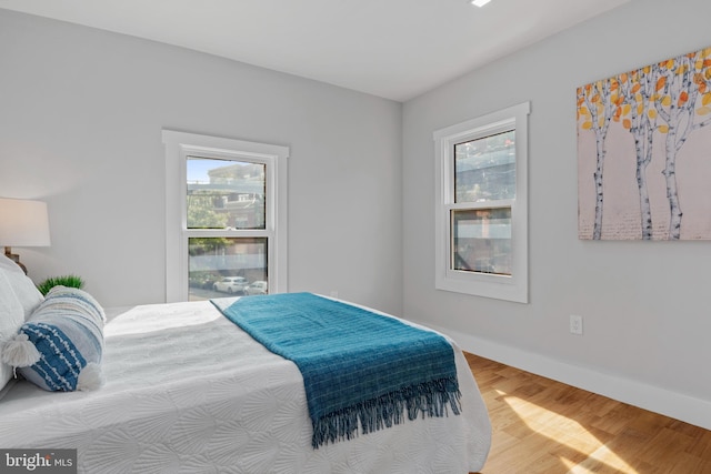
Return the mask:
M137 306L104 330L106 385L0 401L0 447L78 448L80 473L467 473L491 426L455 346L462 415L405 422L311 447L297 366L210 302Z

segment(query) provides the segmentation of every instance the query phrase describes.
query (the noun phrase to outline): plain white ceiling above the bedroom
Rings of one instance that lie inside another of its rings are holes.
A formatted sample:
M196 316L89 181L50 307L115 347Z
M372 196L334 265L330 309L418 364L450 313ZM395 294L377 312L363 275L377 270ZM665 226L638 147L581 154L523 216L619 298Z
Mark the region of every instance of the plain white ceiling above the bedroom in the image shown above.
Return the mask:
M407 101L629 0L0 0Z

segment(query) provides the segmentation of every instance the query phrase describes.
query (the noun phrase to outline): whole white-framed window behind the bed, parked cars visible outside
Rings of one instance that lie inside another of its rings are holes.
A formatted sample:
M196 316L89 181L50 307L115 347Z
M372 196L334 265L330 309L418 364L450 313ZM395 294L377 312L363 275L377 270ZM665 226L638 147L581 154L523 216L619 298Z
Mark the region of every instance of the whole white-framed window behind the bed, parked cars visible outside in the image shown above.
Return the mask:
M287 291L289 148L163 130L166 300Z

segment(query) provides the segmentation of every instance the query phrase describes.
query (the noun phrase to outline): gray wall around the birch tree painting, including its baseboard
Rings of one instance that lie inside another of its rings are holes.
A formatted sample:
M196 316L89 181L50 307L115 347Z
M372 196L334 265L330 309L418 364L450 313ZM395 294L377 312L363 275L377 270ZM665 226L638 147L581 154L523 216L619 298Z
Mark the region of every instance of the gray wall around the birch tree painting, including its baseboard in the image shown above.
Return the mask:
M711 427L711 242L578 240L575 134L577 87L711 46L709 18L707 0L633 0L407 102L404 316ZM432 132L528 100L530 304L435 291ZM583 336L569 333L571 314Z

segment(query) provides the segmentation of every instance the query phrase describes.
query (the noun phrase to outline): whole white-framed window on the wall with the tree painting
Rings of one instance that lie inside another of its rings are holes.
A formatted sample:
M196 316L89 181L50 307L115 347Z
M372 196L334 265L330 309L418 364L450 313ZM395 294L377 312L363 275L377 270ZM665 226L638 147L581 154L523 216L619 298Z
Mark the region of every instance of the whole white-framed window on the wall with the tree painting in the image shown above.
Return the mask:
M435 288L528 303L525 102L434 132Z

